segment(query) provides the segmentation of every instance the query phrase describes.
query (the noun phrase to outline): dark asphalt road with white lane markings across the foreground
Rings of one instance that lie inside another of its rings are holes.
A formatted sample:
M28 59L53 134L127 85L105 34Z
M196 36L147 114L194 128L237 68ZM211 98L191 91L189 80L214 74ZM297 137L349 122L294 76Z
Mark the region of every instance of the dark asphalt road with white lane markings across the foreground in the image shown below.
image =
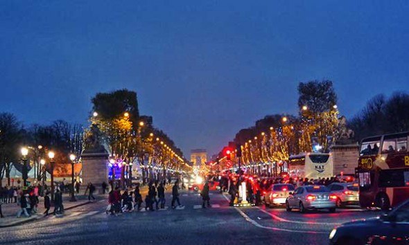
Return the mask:
M106 200L21 226L0 229L0 244L327 244L337 224L375 217L359 209L286 212L283 208L232 208L211 193L212 208L200 196L182 192L184 208L105 214ZM166 197L169 206L171 196Z

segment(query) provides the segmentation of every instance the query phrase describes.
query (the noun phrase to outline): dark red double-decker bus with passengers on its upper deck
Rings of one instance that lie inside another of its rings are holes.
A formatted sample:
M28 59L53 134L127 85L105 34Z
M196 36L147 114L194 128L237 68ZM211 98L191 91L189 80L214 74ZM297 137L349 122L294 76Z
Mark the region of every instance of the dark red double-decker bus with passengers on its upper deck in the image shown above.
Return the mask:
M409 199L409 132L364 138L356 175L360 206L383 210Z

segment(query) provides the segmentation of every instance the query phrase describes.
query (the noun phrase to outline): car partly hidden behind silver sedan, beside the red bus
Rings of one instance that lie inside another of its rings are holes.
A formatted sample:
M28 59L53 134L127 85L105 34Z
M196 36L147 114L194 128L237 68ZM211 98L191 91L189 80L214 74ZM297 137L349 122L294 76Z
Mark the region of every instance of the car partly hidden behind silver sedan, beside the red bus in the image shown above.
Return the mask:
M358 183L331 183L328 188L332 194L337 196L337 208L346 205L359 205Z

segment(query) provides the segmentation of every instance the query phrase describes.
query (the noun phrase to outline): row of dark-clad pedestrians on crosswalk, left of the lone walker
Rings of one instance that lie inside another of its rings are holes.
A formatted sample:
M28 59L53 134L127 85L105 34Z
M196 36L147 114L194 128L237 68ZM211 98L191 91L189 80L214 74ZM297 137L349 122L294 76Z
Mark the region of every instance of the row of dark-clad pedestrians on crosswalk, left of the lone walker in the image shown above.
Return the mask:
M148 193L144 197L144 201L139 184L137 184L133 190L128 188L122 193L118 187L114 188L114 190L108 193L106 213L118 215L123 212L140 211L142 208L150 211L164 209L166 203L165 191L168 185L171 185L171 182L166 183L165 180L150 182L148 184ZM179 199L179 189L179 181L176 180L172 186L171 207L173 209L177 206L182 207ZM145 203L144 207L142 207L143 202Z

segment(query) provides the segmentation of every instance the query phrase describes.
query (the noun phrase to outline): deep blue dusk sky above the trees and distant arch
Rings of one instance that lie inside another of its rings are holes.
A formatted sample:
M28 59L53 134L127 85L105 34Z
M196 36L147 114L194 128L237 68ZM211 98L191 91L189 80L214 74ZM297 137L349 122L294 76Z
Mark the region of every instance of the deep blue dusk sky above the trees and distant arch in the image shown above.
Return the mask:
M409 1L0 1L0 111L87 124L95 93L137 91L186 156L216 153L297 84L333 80L351 117L409 91Z

